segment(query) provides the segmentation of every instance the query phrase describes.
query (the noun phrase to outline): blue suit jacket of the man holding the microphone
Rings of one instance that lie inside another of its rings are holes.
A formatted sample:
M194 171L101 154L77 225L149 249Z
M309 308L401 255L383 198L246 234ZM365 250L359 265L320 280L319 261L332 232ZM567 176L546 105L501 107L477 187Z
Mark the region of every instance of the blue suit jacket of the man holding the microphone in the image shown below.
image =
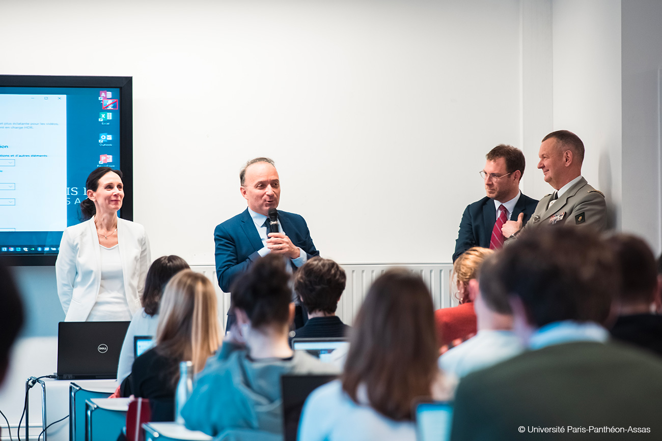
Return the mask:
M306 252L308 259L320 255L310 239L308 225L301 216L279 210L278 220L285 235ZM248 208L234 218L216 225L214 242L218 286L224 292L230 292L232 282L244 274L252 262L260 259L258 251L262 248L262 241Z

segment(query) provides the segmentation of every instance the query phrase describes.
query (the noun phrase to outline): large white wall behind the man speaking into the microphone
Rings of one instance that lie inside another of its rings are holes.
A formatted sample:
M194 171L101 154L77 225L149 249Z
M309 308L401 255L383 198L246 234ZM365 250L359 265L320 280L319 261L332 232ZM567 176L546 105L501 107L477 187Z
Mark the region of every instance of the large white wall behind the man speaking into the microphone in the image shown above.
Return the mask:
M448 262L478 171L520 140L519 1L26 1L2 73L134 77L135 220L212 264L277 163L281 208L342 262ZM124 10L126 16L112 11Z

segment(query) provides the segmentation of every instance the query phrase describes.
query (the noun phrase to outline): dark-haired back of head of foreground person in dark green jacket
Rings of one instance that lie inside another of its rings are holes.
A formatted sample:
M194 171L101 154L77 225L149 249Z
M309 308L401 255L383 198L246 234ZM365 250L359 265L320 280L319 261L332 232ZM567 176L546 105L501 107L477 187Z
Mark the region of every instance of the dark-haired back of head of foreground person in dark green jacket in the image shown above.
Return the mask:
M491 289L516 296L536 328L563 320L604 323L620 274L597 233L573 227L526 231L481 270ZM482 288L482 287L481 287Z

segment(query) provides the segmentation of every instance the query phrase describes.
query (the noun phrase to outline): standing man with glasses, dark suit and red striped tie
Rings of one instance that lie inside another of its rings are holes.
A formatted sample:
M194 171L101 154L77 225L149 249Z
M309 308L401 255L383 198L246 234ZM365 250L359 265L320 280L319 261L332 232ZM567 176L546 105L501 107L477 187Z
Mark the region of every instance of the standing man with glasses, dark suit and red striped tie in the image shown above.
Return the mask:
M487 161L481 176L487 196L464 210L455 241L453 262L471 247L498 249L504 235L501 228L508 220L529 220L538 200L520 192L524 175L524 153L512 145L499 144L485 155Z

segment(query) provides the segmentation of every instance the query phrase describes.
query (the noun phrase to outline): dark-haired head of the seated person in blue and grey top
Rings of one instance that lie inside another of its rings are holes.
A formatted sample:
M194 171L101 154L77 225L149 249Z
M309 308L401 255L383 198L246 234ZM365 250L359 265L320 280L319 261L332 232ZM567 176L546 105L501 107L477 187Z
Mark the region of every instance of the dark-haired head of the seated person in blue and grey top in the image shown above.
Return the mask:
M268 254L252 264L232 286L232 306L244 311L252 329L289 323L292 290L285 259Z

